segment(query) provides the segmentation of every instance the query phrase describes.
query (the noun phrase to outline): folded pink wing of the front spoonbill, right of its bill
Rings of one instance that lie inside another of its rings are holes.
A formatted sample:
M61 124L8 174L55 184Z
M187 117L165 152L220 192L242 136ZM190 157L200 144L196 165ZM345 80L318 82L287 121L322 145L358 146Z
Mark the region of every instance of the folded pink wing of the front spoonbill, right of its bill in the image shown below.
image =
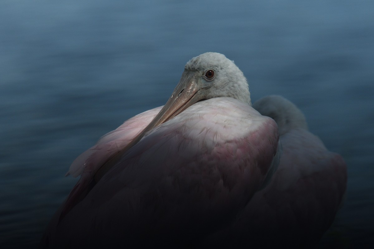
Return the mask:
M206 236L262 186L277 148L275 121L247 104L196 103L129 149L59 222L64 233L50 229L47 240L79 247Z

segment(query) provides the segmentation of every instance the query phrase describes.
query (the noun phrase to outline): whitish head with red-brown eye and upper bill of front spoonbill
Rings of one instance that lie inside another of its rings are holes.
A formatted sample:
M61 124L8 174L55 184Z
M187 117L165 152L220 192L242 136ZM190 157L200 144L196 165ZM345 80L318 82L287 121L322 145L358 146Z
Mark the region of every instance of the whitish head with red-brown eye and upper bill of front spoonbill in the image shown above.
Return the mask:
M194 103L214 97L232 97L251 105L243 72L226 56L208 52L187 62L177 87L148 130L173 118Z

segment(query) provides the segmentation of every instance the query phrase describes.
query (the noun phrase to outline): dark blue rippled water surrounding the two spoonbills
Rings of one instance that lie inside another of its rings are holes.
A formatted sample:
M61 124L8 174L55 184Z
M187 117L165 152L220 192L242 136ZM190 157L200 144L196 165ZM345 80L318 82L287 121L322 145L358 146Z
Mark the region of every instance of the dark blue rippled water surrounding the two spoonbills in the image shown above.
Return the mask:
M36 247L71 162L203 52L281 94L348 165L321 248L374 242L374 1L0 1L0 248Z

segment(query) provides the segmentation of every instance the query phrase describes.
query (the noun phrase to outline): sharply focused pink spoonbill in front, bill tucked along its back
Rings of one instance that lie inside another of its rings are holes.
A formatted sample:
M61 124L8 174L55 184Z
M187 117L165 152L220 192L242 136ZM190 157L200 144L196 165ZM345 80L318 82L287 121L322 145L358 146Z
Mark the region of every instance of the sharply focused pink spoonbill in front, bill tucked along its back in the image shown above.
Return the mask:
M278 136L232 61L194 57L163 108L129 119L73 162L68 174L82 176L41 246L197 246L234 231L278 166Z

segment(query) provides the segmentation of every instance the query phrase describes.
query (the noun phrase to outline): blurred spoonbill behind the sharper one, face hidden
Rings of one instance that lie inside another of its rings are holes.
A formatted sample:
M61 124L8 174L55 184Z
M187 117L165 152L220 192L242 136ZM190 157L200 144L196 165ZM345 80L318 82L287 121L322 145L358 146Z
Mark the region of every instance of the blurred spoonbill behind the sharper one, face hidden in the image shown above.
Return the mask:
M346 164L308 131L305 116L289 100L266 96L253 108L278 124L283 148L278 169L235 221L207 241L254 248L315 246L343 204Z

